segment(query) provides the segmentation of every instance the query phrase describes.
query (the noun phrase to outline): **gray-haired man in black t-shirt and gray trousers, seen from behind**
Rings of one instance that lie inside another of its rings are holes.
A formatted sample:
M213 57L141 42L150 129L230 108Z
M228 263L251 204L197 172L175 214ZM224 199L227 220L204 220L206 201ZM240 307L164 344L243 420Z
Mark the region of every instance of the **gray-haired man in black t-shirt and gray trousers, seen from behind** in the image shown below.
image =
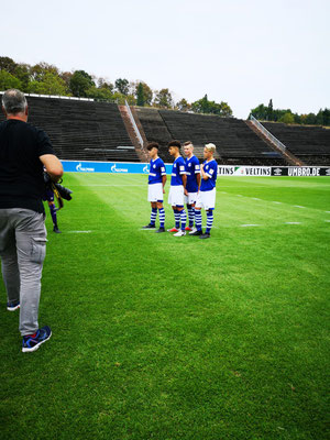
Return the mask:
M63 175L48 136L28 123L28 102L20 90L2 96L7 118L0 123L0 257L7 309L20 308L23 352L51 338L38 328L41 277L46 252L43 169L54 182Z

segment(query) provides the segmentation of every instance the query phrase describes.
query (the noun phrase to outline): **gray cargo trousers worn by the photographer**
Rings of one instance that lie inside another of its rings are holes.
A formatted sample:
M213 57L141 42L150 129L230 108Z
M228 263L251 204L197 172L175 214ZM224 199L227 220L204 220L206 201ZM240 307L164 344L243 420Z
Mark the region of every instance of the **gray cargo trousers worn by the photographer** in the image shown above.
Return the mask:
M30 209L0 209L0 257L8 301L20 300L20 332L38 329L37 312L46 255L44 215Z

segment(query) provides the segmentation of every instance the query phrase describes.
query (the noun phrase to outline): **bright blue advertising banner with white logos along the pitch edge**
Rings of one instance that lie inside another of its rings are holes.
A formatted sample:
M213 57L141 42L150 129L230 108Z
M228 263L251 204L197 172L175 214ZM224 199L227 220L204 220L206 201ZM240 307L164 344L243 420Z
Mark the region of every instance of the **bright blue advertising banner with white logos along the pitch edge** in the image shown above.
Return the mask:
M150 164L133 162L87 162L61 161L64 172L72 173L114 173L114 174L148 174ZM165 164L166 173L172 173L172 164Z

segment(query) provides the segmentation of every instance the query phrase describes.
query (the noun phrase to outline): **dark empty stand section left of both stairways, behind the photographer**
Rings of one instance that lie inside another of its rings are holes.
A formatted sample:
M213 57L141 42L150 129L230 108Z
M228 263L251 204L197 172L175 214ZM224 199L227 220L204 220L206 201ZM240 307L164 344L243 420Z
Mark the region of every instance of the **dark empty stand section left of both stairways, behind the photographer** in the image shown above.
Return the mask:
M140 162L116 103L31 96L26 99L29 122L46 131L59 158Z

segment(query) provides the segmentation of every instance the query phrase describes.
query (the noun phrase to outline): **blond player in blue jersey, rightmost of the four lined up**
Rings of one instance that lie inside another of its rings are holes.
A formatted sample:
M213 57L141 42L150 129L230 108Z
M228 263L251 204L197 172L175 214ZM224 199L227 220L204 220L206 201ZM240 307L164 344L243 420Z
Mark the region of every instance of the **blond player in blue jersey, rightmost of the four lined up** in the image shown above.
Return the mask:
M215 161L215 144L206 144L204 148L205 162L200 165L201 184L195 206L195 222L197 231L190 232L190 235L199 235L200 239L209 239L213 224L213 210L216 206L216 182L218 174L218 164ZM207 213L207 229L202 233L201 229L201 208Z

